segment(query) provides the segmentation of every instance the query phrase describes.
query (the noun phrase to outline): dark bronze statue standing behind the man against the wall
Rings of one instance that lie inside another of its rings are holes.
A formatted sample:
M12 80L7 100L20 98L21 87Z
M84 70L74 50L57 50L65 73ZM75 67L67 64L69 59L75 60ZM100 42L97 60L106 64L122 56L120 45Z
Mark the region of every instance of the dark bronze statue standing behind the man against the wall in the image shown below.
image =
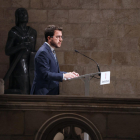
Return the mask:
M4 80L10 77L8 93L29 94L32 83L29 65L31 63L33 66L34 63L30 60L33 60L31 57L35 52L37 32L26 26L28 13L24 8L16 10L15 22L16 26L9 31L5 47L6 55L10 56L10 68Z

